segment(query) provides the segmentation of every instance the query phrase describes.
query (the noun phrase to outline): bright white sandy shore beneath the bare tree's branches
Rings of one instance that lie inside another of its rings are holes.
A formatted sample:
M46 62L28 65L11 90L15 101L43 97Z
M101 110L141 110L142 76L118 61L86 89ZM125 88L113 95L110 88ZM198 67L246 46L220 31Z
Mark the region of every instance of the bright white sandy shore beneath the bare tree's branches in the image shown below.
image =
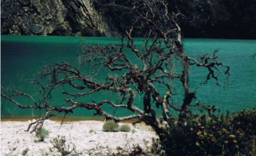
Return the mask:
M156 138L154 131L149 130L146 125L139 124L133 126L130 132L103 132L102 121L76 121L60 122L45 120L43 128L49 131L45 141L36 141L35 133L24 130L28 128L31 120L27 122L1 122L1 155L22 155L25 149L29 149L27 156L61 155L53 144L50 143L56 136L65 136L70 145L75 147L75 151L70 155L110 155L118 152L117 149L131 151L135 145L140 145L144 150L151 146L152 138ZM122 125L124 123L119 123ZM61 126L61 127L60 127ZM118 147L118 148L117 148Z

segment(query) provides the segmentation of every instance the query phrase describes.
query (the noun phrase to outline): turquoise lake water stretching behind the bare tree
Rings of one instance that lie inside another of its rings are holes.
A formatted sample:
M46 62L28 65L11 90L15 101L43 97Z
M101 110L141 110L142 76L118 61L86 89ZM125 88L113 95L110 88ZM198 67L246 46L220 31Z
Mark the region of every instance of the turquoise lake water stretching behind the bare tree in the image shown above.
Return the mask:
M77 59L85 42L87 44L113 44L118 43L119 39L75 36L1 36L1 86L22 90L39 99L38 87L31 84L28 79L36 77L43 66L67 61L74 66L78 66L84 74L89 73L93 69L90 66L81 65ZM135 39L135 42L140 46L143 39ZM222 86L217 86L213 79L210 80L206 85L199 87L195 101L203 101L207 105L216 105L223 111L252 109L253 106L256 106L255 40L184 39L184 47L187 55L195 58L198 55L219 50L217 53L219 61L230 66L230 77L228 79L225 79L222 75L219 76L221 78L219 82ZM97 79L101 81L108 74L110 74L110 71L102 71ZM192 90L206 77L206 71L193 67L189 70L189 74ZM69 88L64 87L61 90L69 90ZM167 91L160 86L159 90L162 94ZM182 88L176 86L177 95L174 95L173 98L177 105L181 104L182 101L181 95L178 95L181 91ZM54 105L63 104L64 98L59 90L54 90L50 102ZM116 101L118 95L99 92L79 100L90 102L91 100L100 101L105 99ZM26 98L17 100L22 104L31 104ZM143 104L142 100L143 96L136 95L135 105L141 106ZM106 106L105 109L107 112L114 112L118 116L129 114L126 110L113 110L110 106ZM38 114L40 112L18 109L15 104L1 98L1 116L30 115L32 113ZM92 112L86 109L76 109L72 115L93 116Z

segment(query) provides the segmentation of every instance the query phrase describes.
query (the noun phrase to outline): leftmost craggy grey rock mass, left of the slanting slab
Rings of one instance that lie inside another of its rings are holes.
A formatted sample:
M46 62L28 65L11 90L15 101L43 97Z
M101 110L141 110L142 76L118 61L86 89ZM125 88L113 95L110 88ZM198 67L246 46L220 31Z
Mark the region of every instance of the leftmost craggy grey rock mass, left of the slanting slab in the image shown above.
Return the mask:
M48 35L56 29L71 29L64 19L67 9L61 0L1 1L1 33ZM59 18L57 18L59 15Z

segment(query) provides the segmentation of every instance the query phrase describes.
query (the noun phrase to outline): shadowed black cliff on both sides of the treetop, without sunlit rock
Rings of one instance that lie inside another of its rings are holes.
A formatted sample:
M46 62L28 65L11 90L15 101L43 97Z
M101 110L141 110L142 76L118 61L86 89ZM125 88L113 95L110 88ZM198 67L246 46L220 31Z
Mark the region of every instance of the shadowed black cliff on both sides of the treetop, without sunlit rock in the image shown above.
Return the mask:
M108 0L94 1L97 1L95 8L102 10L102 15L108 18L108 23L114 24L119 32L127 28L132 17L123 13L124 10L120 7L102 8L97 5L108 3ZM113 4L119 5L131 3L113 1ZM184 37L256 39L255 2L256 0L168 0L167 7L169 12L181 12L184 15L179 18ZM143 31L139 30L135 34L143 36Z

